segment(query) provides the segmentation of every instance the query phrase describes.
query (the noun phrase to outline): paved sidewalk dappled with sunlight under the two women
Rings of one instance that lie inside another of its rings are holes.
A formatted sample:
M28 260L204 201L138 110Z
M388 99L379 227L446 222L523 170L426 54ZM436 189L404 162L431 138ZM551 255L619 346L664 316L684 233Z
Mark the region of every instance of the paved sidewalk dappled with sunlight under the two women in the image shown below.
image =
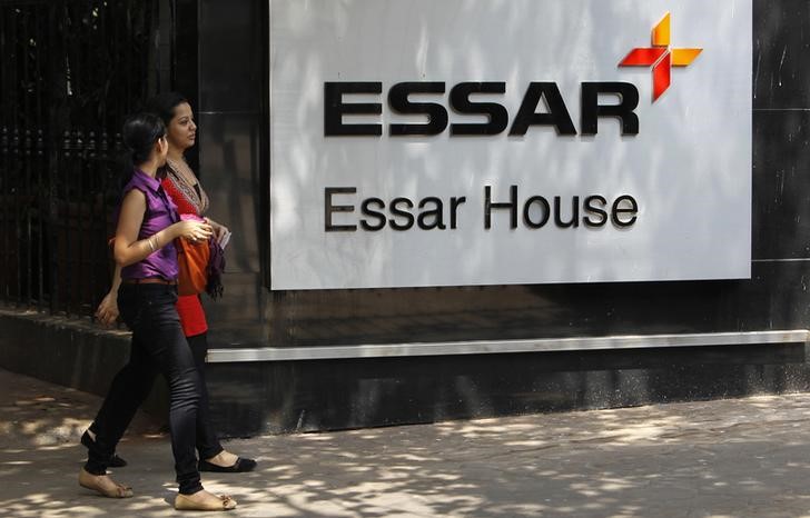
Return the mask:
M145 416L115 477L80 488L100 399L0 370L0 516L165 517L170 445ZM204 474L245 517L810 517L810 395L228 441L247 475ZM188 516L188 514L185 514Z

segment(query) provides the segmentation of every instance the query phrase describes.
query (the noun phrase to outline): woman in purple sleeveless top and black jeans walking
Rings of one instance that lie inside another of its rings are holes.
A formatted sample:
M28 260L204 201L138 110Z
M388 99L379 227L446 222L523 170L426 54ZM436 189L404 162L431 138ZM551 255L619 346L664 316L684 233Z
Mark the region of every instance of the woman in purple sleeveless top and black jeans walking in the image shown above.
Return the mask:
M236 501L206 491L200 482L195 439L201 382L175 309L178 267L172 241L207 240L211 228L204 222L180 221L176 206L156 178L168 153L162 120L150 113L135 116L124 124L122 136L134 171L124 188L113 256L121 267L118 305L132 331L132 342L129 362L112 380L107 400L125 400L134 387L141 385L144 372L159 370L170 395L171 451L179 484L175 508L233 509ZM107 426L96 434L87 464L79 472L82 487L111 498L132 496L130 488L106 474L135 408L121 405L107 409Z

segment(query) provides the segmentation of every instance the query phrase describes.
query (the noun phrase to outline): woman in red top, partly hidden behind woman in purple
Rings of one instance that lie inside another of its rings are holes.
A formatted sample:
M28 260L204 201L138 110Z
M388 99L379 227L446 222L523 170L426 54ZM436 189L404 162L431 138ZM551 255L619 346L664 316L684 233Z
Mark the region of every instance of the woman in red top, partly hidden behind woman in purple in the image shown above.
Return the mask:
M208 196L200 186L191 168L184 158L184 152L192 147L197 138L197 124L194 122L194 112L188 101L176 92L155 96L147 102L147 111L159 116L167 128L169 151L166 160L166 177L161 181L164 190L177 206L180 215L205 217L208 211ZM216 221L206 219L214 229L214 239L221 239L228 229ZM116 276L118 277L118 276ZM113 281L112 289L101 301L97 317L102 323L111 323L118 317L119 279ZM238 457L219 444L214 434L208 414L208 390L205 383L205 360L208 353L208 323L198 295L179 296L177 312L180 316L182 331L188 346L191 348L197 370L202 379L202 394L197 412L197 451L199 452L200 471L241 472L250 471L256 461ZM88 440L97 427L93 422L88 432ZM83 440L83 438L82 438ZM113 454L110 466L126 466L126 461Z

